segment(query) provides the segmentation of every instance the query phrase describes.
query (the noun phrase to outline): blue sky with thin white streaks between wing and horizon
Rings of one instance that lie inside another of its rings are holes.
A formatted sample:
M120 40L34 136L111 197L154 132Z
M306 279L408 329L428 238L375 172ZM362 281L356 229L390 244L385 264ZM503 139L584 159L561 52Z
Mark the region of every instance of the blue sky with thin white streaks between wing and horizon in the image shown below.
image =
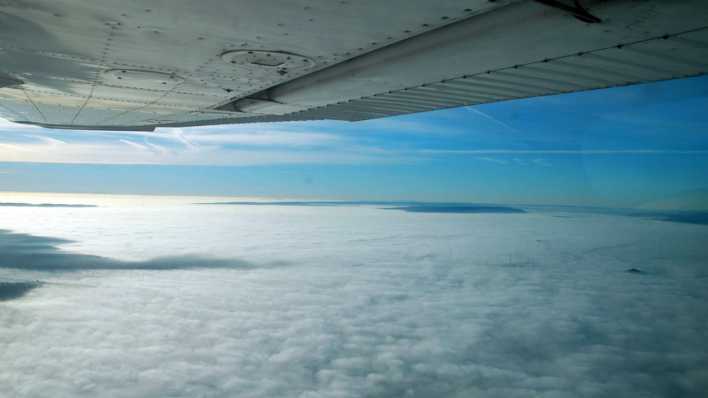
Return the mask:
M708 207L708 77L359 123L0 125L0 190Z

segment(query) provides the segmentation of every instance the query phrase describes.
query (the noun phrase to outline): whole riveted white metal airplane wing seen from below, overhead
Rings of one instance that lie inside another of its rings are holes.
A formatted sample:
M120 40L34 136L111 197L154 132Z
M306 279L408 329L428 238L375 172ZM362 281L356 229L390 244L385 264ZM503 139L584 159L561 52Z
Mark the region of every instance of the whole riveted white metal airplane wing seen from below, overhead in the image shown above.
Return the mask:
M0 116L53 128L358 121L707 70L704 0L0 3Z

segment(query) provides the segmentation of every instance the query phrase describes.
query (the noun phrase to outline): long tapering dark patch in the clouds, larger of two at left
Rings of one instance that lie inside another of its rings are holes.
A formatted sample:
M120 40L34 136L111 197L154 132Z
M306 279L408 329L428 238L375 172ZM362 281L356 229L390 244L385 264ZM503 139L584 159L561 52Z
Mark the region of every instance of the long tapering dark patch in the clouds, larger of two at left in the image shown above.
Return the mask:
M0 230L0 268L33 271L255 268L253 264L238 259L184 255L157 257L144 261L122 261L101 256L69 253L58 248L58 245L70 242L65 239Z

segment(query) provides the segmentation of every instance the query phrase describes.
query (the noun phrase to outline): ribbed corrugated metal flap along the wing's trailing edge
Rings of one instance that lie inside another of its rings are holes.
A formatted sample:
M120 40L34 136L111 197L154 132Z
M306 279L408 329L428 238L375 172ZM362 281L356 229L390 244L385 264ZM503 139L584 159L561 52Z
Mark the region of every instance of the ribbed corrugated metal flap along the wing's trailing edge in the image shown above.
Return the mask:
M293 116L366 120L459 106L697 76L708 29L662 35L316 107Z

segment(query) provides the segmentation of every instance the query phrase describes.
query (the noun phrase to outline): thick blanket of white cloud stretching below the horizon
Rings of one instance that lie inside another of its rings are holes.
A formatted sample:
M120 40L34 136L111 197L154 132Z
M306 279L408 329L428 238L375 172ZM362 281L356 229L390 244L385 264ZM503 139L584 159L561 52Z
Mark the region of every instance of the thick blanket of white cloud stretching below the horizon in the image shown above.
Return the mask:
M255 264L1 270L53 283L0 304L0 396L708 391L706 226L367 207L0 212L18 231L76 239L69 254Z

